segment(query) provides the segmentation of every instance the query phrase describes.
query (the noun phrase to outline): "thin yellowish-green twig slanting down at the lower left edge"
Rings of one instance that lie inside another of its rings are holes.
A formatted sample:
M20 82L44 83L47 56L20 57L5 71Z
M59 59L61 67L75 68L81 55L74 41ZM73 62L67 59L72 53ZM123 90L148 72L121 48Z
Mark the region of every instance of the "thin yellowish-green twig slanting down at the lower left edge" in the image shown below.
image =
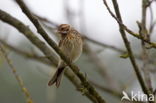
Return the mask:
M5 51L5 49L4 49L4 47L3 47L3 45L1 43L0 43L0 51L2 52L4 58L6 59L6 62L8 63L13 75L15 76L20 88L22 89L22 92L24 93L24 95L25 95L25 97L27 99L27 103L34 103L31 96L30 96L30 93L29 93L28 89L25 87L21 77L17 74L16 69L15 69L12 61L8 57L6 51Z

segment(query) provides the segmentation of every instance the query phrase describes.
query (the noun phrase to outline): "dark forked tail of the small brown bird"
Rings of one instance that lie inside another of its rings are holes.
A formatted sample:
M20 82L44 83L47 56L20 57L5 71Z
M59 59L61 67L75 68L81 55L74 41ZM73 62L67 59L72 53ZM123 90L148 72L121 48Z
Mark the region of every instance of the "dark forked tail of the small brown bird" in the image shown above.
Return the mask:
M65 67L60 67L57 69L57 71L55 72L54 76L51 78L51 80L49 81L48 85L51 86L54 83L56 83L56 87L58 88L61 80L62 80L62 75L64 73L64 69Z

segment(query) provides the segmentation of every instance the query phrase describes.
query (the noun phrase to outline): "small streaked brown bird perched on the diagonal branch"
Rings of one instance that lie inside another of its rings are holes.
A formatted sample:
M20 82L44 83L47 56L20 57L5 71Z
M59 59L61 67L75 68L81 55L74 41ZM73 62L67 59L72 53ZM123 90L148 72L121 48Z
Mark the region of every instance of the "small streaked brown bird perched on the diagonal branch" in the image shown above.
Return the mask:
M65 56L67 56L67 58L69 58L71 63L78 60L83 49L83 40L81 34L69 24L59 25L57 32L61 34L61 40L58 44L60 50L64 53ZM66 63L61 58L59 58L57 70L54 76L48 82L49 86L53 84L56 84L57 88L60 86L66 67Z

